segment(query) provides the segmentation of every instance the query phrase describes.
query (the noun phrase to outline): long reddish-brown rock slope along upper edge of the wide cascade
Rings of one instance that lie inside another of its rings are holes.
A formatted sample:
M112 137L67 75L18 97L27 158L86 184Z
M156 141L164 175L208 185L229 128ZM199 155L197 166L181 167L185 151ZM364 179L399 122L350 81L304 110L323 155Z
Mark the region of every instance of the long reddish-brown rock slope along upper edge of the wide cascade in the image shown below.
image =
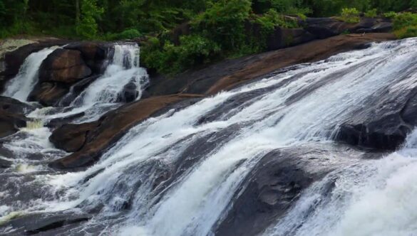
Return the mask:
M275 70L299 63L312 63L329 58L331 55L343 53L348 50L363 47L366 43L395 40L396 36L391 33L367 33L335 36L320 41L312 41L292 48L284 48L259 55L252 55L245 60L250 61L241 70L217 80L207 95L212 95L222 90L229 90L240 85L242 82L253 80L267 75Z

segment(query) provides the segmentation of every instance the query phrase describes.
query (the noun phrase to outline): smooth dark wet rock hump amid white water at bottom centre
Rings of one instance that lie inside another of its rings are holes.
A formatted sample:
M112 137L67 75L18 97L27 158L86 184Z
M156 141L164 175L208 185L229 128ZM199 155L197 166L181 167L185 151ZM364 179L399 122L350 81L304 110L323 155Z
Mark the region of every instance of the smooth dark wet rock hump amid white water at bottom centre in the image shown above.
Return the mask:
M259 235L277 223L312 183L339 166L360 161L352 156L366 157L367 154L333 144L271 151L235 191L232 208L217 223L215 235Z

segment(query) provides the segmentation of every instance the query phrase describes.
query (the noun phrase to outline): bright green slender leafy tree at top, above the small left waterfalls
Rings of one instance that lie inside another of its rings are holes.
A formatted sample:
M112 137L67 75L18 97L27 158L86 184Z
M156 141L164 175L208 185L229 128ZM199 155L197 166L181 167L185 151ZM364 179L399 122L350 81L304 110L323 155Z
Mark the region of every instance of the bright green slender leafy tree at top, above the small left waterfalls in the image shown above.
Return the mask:
M97 18L100 18L104 10L97 6L97 0L83 0L81 4L81 21L76 26L79 36L94 39L98 33Z

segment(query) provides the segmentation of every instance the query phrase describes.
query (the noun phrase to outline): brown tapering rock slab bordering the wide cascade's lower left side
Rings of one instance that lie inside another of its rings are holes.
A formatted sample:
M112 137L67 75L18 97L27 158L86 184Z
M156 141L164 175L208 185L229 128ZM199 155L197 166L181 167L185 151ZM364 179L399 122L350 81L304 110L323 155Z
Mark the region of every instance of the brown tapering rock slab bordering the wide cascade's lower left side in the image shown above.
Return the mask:
M95 122L97 124L96 127L91 127L93 129L87 131L86 142L79 151L63 159L53 161L50 163L50 166L58 169L73 170L91 166L100 158L103 151L120 139L135 124L170 104L193 97L200 96L184 94L150 97L131 104L125 104L118 109L108 112L98 122ZM81 127L84 126L89 126L89 124L79 124L79 127L74 127L74 129L83 129Z

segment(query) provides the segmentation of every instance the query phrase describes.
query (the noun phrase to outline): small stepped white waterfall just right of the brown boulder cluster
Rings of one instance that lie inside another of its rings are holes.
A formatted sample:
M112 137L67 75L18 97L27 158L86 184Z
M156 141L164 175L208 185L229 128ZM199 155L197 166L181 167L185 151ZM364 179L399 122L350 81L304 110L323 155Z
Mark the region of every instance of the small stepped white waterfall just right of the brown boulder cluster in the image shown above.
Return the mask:
M65 109L46 107L38 109L29 117L37 119L56 119L68 117L83 112L83 116L75 119L74 123L91 122L98 119L105 112L119 107L125 102L123 93L129 86L130 93L135 100L139 100L142 91L148 85L148 73L139 63L140 48L134 43L115 44L110 64L105 72L91 85L81 92ZM72 91L63 101L72 97Z

